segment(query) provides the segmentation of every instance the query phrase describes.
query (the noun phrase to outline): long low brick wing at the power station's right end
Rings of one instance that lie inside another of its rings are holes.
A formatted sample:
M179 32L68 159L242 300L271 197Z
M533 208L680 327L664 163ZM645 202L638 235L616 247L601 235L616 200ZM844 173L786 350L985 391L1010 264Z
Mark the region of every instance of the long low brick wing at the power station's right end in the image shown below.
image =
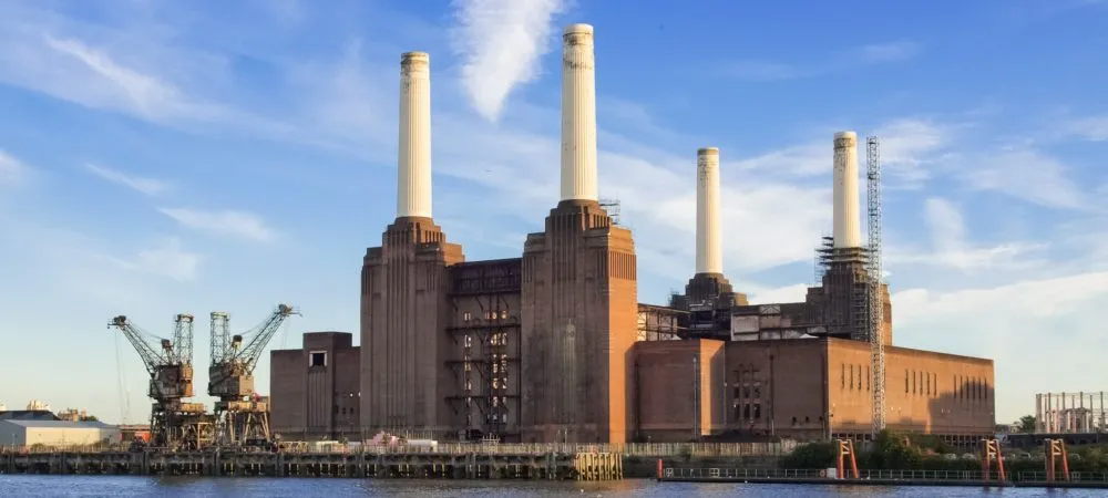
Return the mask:
M866 438L868 343L833 338L635 345L634 438ZM976 440L994 428L992 360L886 347L886 427Z

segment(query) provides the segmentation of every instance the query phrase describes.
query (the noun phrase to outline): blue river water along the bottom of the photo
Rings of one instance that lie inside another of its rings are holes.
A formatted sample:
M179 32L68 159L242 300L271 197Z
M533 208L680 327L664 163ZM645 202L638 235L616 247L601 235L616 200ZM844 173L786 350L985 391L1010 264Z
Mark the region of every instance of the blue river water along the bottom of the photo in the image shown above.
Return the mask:
M464 481L464 480L375 480L327 478L211 478L211 477L117 477L117 476L25 476L0 475L0 497L776 497L893 496L919 498L1004 496L1012 498L1057 496L1104 497L1102 489L1045 489L943 487L871 487L814 485L742 485L655 483L628 479L608 483Z

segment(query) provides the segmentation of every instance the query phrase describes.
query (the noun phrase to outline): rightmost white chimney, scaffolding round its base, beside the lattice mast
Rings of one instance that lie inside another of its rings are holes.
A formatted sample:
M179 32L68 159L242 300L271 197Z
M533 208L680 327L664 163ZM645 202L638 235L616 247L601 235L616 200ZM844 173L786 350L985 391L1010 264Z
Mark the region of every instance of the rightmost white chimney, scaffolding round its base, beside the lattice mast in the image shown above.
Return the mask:
M834 134L834 247L862 247L858 212L858 134Z

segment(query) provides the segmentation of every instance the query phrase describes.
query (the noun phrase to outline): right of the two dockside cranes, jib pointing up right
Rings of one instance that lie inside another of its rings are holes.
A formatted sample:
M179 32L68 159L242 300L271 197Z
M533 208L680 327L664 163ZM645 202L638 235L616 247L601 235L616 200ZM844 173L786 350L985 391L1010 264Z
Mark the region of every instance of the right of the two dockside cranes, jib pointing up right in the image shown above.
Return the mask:
M243 334L230 335L227 313L212 312L212 365L208 394L218 398L215 416L222 445L270 442L269 405L254 391L254 367L269 340L290 315L291 304L278 304L269 318Z

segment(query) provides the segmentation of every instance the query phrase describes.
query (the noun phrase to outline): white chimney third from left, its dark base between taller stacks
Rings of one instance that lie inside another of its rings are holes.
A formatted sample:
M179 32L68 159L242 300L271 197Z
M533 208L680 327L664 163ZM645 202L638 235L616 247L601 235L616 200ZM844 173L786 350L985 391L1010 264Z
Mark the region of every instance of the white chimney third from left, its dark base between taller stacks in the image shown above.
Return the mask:
M696 272L722 273L719 234L719 149L696 152Z

